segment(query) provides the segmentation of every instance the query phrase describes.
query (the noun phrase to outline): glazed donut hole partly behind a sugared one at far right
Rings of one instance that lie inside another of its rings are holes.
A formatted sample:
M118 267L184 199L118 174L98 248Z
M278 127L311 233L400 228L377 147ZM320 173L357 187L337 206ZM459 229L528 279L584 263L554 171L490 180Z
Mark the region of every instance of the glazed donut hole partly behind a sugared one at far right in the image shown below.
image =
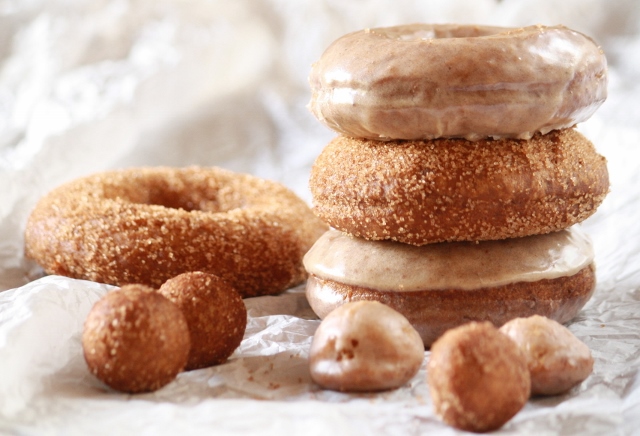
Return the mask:
M582 383L593 371L589 347L562 324L539 315L513 319L500 331L527 358L531 395L558 395Z

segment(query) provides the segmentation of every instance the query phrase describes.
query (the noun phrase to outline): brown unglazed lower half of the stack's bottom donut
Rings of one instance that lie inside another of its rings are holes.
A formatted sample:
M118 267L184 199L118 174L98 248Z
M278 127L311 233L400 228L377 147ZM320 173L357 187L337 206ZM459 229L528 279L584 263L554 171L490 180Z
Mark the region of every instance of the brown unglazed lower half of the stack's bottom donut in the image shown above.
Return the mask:
M513 318L542 315L565 323L589 301L595 284L592 264L568 277L477 290L378 291L312 274L306 294L320 318L350 301L380 301L403 314L420 333L425 347L430 347L448 329L471 320L501 326Z

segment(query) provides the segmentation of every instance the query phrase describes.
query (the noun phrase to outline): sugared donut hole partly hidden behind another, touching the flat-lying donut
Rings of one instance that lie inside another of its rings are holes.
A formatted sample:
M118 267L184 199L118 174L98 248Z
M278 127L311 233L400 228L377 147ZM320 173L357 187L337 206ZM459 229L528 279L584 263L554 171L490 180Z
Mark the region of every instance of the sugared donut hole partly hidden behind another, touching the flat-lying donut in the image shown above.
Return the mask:
M247 309L240 294L221 278L188 272L167 280L158 292L187 320L191 348L186 370L223 363L242 342Z

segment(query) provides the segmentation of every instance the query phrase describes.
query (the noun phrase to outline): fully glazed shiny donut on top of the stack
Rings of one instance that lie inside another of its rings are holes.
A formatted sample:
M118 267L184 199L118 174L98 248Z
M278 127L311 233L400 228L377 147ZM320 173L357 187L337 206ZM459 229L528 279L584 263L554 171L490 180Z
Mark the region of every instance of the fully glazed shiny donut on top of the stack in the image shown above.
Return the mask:
M347 136L528 139L589 118L607 62L562 26L413 24L339 38L309 82L311 112Z

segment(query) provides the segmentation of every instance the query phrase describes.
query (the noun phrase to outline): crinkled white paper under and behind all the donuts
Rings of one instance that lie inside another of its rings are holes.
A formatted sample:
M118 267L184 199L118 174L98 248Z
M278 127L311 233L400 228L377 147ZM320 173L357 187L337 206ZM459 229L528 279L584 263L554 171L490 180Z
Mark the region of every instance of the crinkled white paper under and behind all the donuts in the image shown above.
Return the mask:
M246 299L225 364L149 394L114 392L82 357L84 319L109 286L39 278L22 232L44 193L96 171L218 165L309 201L334 134L306 110L310 65L340 35L410 22L565 24L610 63L609 99L579 129L609 162L611 193L583 229L598 285L569 328L593 374L535 398L502 434L640 429L640 10L635 0L62 0L0 2L0 434L459 434L433 414L422 370L378 394L309 376L319 324L303 287ZM429 352L425 352L425 363Z

